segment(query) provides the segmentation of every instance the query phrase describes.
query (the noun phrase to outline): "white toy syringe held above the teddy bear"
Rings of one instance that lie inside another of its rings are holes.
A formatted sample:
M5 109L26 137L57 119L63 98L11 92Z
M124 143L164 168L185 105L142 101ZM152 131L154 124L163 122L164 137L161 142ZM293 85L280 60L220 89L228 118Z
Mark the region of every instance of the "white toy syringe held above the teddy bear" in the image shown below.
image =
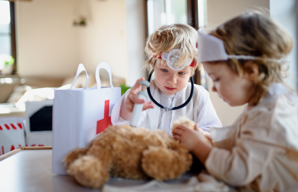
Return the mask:
M140 81L140 85L142 86L141 91L138 92L138 98L144 99L147 97L147 93L145 92L146 88L149 87L149 81ZM131 120L129 122L130 126L137 127L139 122L140 114L143 110L144 103L135 104L133 109L133 114Z

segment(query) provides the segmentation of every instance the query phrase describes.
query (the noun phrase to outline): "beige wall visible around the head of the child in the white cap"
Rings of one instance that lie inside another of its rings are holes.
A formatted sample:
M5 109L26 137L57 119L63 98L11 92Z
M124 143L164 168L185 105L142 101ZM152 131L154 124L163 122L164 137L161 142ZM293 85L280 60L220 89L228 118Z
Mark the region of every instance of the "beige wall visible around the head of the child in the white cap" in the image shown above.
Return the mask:
M248 8L257 7L269 9L269 0L207 0L208 26L216 27ZM214 108L223 126L231 125L243 111L244 106L230 107L217 93L211 90L213 83L211 79L209 80L209 93Z

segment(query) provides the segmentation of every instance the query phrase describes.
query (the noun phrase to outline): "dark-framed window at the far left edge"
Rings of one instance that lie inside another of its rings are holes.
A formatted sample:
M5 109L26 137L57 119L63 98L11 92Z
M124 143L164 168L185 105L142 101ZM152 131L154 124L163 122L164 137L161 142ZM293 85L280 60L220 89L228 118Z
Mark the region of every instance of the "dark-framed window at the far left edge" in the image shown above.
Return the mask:
M15 53L15 27L14 27L14 2L0 0L0 56L12 56L16 59ZM0 69L3 60L0 61ZM16 62L10 73L15 73ZM2 66L3 67L3 66Z

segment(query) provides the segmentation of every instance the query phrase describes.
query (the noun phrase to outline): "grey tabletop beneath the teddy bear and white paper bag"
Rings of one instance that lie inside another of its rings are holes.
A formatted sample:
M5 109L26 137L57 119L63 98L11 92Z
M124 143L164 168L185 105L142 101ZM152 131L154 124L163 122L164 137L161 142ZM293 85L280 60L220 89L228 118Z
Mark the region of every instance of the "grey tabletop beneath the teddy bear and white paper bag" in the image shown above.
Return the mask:
M184 174L180 179L162 185L183 184L192 176L190 173ZM0 192L112 192L115 189L124 190L127 186L152 186L154 182L110 178L104 186L106 189L92 190L80 186L71 176L52 173L52 147L18 147L0 156Z

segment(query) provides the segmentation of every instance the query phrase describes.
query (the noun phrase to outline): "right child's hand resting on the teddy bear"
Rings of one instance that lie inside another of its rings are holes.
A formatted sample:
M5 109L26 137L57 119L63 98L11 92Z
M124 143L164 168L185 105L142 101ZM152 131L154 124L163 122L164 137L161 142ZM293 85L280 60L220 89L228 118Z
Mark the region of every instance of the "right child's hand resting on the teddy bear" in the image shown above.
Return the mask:
M179 125L174 130L174 138L183 143L190 151L198 147L200 142L206 142L204 130L198 128L198 125L195 125L195 129Z

